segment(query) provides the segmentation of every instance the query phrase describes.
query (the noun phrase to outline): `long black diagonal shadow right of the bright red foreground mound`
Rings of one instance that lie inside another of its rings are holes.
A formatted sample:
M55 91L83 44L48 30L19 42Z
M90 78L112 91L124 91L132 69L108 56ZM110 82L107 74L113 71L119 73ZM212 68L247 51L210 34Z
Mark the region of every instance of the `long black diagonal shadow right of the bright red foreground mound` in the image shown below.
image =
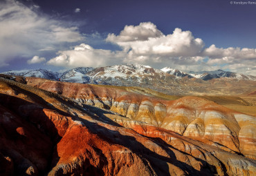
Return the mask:
M172 168L169 168L167 163L181 168L181 170L185 171L185 173L188 173L189 175L214 175L217 173L217 170L214 166L206 163L202 159L197 160L202 162L202 164L205 166L203 170L196 170L192 166L177 160L175 153L172 151L174 148L160 138L146 137L147 139L153 141L155 144L158 144L158 146L161 146L161 148L163 148L163 150L165 150L170 157L165 157L153 152L152 150L149 150L149 148L146 148L143 144L137 141L135 137L122 135L116 130L109 130L104 126L98 126L98 124L93 124L92 122L86 121L84 119L80 120L83 121L85 126L89 128L93 133L100 135L100 137L106 141L109 141L112 144L125 146L126 148L129 148L131 152L136 153L136 155L142 159L145 166L148 166L149 168L151 166L151 168L154 170L151 170L152 173L156 172L156 175L170 175L170 170L172 170ZM141 135L138 134L138 137L141 137ZM157 150L157 148L155 149ZM183 155L188 154L183 153ZM149 162L149 164L147 162Z

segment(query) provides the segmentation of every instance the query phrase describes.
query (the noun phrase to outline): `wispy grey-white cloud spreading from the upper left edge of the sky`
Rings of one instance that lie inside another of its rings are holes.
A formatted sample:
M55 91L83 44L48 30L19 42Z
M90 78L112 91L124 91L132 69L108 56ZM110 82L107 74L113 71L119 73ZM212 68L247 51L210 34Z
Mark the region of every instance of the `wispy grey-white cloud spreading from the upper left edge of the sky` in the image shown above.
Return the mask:
M0 2L0 66L15 57L37 55L39 50L57 48L63 42L84 39L76 27L38 13L39 6L15 0Z

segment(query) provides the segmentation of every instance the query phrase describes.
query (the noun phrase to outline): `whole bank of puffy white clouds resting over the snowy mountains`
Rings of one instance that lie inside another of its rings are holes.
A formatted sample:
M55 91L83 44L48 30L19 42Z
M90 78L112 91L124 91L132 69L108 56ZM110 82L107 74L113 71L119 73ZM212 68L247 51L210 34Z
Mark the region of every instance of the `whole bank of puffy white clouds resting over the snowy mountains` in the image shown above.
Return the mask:
M120 63L140 63L155 68L171 66L184 71L226 69L256 75L255 48L204 47L202 39L190 31L176 28L164 35L151 22L125 26L119 35L109 34L105 39L122 50L99 50L86 44L73 50L59 51L58 57L48 61L55 66L106 66Z

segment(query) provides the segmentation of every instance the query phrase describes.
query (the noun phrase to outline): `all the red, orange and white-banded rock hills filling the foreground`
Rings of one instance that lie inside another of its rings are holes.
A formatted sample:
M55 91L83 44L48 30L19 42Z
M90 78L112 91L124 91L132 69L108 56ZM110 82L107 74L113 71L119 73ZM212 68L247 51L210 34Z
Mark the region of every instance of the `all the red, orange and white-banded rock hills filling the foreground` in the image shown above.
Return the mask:
M256 174L254 117L195 97L27 81L0 78L2 175Z

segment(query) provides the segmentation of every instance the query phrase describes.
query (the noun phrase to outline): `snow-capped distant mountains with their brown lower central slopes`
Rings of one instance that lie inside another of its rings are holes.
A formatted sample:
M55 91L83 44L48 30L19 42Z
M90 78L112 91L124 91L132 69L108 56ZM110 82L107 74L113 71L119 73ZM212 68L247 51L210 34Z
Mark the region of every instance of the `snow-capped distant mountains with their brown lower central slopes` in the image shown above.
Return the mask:
M183 72L170 67L158 70L150 66L138 64L123 64L116 66L106 66L100 68L77 67L65 72L52 72L50 70L20 70L2 72L5 75L18 75L23 77L41 77L45 79L61 80L76 83L89 84L108 84L116 86L140 86L165 84L166 81L176 84L176 78L188 77L210 79L226 77L234 80L256 80L255 76L243 75L236 72L226 72L223 70L202 71L202 72Z

